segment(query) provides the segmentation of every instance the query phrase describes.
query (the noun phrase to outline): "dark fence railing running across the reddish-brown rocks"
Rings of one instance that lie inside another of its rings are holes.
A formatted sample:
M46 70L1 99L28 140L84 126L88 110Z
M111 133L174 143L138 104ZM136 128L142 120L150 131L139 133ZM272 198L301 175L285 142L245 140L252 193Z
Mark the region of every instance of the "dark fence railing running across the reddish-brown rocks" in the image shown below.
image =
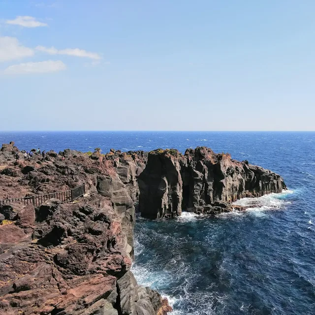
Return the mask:
M45 193L43 195L33 195L30 197L2 199L0 200L0 205L9 204L12 202L22 202L25 205L33 204L34 206L39 206L51 198L59 199L61 202L73 202L75 199L78 199L84 194L85 194L85 184L82 184L73 189Z

